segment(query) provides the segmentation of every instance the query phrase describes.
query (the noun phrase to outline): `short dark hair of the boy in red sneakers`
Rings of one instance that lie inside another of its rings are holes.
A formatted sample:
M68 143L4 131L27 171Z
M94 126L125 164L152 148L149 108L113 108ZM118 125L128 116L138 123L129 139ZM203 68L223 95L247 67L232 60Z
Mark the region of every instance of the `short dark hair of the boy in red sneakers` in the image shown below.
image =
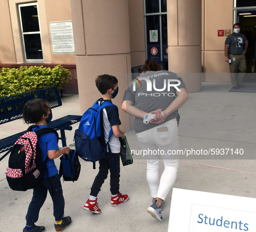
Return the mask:
M95 84L101 94L107 93L109 89L114 89L117 83L117 78L108 74L99 75L95 79Z

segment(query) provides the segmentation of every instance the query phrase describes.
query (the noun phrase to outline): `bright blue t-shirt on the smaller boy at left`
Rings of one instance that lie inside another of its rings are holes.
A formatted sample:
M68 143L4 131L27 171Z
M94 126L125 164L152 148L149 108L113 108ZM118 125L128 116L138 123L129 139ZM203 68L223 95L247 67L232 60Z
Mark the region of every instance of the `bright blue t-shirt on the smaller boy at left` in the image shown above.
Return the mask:
M37 126L39 126L39 129L46 128L45 125ZM33 128L32 131L35 131L35 129L36 128ZM57 136L55 135L55 133L52 132L39 135L38 144L42 153L42 162L44 162L46 157L48 156L48 151L58 149ZM45 170L44 178L54 176L58 173L58 169L55 165L54 159L48 159L45 165L47 171Z

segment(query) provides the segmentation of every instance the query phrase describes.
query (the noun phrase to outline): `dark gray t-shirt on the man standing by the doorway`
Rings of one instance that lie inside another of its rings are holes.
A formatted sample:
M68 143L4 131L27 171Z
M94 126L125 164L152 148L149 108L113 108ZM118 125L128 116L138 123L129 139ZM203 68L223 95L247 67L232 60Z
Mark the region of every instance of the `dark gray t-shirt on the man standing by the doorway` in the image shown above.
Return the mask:
M243 44L247 41L245 35L232 33L226 38L225 44L229 45L228 53L240 55L243 53Z

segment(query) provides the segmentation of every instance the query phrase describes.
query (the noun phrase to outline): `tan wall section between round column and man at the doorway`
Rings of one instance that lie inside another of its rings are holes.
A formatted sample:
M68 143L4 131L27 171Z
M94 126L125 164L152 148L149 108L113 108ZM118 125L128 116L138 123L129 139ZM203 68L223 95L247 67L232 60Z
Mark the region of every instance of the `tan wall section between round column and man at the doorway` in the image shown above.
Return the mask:
M207 73L229 73L229 64L225 62L224 43L227 36L218 36L218 30L233 26L233 0L204 0L204 81L230 82L229 75L211 75Z

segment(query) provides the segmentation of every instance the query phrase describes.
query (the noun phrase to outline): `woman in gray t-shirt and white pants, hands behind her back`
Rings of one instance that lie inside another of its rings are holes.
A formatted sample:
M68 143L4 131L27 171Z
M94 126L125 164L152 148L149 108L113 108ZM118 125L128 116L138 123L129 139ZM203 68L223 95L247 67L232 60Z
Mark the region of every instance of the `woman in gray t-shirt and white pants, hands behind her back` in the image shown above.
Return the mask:
M172 155L172 151L179 149L178 108L187 101L188 92L180 77L161 70L154 60L146 60L140 72L125 91L122 109L135 117L134 130L142 155L146 156L146 178L153 197L147 211L162 221L162 201L172 188L178 169L178 157ZM149 117L146 114L155 114L148 124L143 123ZM162 175L159 174L160 156L165 165Z

